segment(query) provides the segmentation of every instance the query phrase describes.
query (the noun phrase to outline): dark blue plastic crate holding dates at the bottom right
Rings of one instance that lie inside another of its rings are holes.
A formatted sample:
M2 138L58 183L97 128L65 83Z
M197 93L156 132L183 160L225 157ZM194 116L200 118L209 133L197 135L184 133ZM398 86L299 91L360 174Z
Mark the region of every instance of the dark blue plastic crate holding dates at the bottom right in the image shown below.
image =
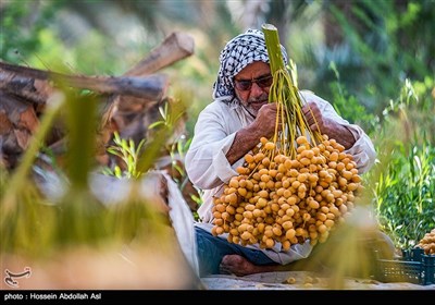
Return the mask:
M403 251L397 259L377 259L375 279L382 282L435 284L435 255L425 255L422 248Z

